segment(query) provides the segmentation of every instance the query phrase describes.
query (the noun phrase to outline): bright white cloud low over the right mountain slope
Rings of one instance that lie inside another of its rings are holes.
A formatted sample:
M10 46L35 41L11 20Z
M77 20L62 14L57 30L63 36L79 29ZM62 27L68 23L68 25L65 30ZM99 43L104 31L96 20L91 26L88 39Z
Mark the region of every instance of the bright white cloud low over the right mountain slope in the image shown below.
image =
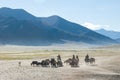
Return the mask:
M108 29L110 26L109 25L100 25L100 24L93 24L90 22L85 22L84 24L82 24L83 26L92 29L92 30L98 30L98 29Z

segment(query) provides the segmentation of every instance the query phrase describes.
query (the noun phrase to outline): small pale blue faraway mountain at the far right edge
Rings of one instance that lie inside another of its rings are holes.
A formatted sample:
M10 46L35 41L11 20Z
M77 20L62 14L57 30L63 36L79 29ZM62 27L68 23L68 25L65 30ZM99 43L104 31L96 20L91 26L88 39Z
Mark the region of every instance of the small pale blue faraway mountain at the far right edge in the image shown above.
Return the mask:
M100 29L100 30L96 30L96 32L103 34L105 36L108 36L112 39L120 38L120 32L117 32L117 31L108 31L105 29Z

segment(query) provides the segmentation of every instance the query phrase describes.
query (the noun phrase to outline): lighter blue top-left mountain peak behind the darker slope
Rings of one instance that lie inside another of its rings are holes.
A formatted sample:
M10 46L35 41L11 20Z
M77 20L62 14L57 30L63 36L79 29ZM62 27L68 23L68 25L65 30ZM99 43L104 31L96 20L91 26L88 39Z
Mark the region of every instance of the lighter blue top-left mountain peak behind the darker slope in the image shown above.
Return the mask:
M0 8L0 15L3 17L14 17L18 20L35 20L36 17L26 12L24 9Z

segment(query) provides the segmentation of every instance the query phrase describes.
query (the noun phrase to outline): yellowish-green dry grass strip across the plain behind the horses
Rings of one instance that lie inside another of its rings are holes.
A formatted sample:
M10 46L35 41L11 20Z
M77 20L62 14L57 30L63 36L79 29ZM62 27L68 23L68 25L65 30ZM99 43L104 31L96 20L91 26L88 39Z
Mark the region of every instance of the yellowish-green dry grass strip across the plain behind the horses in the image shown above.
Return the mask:
M21 53L0 53L0 60L17 60L17 59L33 59L50 56L57 56L61 54L62 57L71 57L73 54L84 57L89 54L92 57L104 57L119 55L120 50L109 49L83 49L83 50L34 50L31 52Z

